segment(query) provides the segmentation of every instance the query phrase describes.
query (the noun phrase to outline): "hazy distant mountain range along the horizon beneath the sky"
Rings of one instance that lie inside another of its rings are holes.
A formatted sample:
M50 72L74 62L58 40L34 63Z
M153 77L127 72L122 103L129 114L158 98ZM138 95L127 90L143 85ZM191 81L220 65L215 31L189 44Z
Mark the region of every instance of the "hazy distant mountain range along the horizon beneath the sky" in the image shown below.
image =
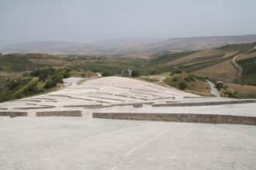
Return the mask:
M207 36L173 39L123 38L104 39L89 44L34 41L0 47L0 53L50 53L59 55L151 56L168 51L212 49L234 43L256 42L255 35Z

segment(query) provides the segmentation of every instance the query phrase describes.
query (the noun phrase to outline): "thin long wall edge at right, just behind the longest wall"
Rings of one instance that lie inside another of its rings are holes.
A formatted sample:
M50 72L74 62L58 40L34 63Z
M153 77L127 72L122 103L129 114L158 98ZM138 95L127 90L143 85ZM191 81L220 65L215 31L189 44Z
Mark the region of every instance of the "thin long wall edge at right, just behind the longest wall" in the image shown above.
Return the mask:
M186 103L172 103L172 104L152 104L152 107L180 107L180 106L210 106L221 104L248 104L256 103L256 100L227 100L227 101L205 101L205 102L186 102Z

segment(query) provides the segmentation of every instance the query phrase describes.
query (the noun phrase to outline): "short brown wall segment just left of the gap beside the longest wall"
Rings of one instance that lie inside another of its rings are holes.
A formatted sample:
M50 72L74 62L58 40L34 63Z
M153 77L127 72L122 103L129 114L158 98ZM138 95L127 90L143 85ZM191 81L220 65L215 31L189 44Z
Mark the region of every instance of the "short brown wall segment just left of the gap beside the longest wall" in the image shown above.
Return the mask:
M37 117L45 117L45 116L81 117L81 110L41 111L41 112L36 112L36 116Z

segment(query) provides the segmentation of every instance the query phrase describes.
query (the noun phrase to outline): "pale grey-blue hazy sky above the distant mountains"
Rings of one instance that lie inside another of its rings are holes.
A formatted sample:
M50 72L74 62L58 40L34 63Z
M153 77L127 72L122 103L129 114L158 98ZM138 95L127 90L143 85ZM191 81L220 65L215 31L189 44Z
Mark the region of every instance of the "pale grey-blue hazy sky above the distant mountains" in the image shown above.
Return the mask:
M255 0L0 0L0 45L256 33Z

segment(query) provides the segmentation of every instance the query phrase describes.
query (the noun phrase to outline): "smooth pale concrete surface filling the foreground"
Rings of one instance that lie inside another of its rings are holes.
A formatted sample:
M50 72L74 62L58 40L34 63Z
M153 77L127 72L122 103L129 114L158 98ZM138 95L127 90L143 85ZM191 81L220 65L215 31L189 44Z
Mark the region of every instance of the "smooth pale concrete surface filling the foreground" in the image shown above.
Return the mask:
M254 169L256 127L0 117L1 169Z

